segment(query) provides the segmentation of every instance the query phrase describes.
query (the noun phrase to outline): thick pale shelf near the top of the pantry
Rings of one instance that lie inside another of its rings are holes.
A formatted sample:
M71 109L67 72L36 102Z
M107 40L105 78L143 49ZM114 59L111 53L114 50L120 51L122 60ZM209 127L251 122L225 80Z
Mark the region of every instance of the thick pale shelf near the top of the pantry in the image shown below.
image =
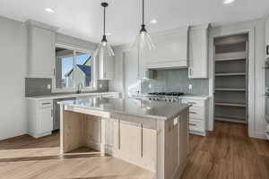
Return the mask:
M243 52L230 52L230 53L221 53L215 54L215 61L232 61L232 60L246 60L247 53Z

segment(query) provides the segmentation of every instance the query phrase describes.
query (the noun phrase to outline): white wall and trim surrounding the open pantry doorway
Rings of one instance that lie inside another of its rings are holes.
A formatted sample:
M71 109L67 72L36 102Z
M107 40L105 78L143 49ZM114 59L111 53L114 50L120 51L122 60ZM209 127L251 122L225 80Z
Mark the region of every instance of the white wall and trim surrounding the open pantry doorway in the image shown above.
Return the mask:
M226 26L213 28L210 31L209 69L210 95L213 97L213 37L232 35L235 33L250 32L249 50L249 116L248 134L251 137L265 139L265 19L245 21ZM251 95L253 93L253 95ZM213 101L211 107L213 109ZM213 110L211 110L213 120Z

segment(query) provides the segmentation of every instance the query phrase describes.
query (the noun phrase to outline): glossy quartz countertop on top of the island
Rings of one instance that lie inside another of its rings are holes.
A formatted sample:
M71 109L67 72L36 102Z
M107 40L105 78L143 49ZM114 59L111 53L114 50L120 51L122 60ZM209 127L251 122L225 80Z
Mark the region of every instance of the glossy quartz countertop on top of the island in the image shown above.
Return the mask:
M167 120L191 107L187 104L166 103L133 98L78 98L58 102L68 107L82 107L121 115Z

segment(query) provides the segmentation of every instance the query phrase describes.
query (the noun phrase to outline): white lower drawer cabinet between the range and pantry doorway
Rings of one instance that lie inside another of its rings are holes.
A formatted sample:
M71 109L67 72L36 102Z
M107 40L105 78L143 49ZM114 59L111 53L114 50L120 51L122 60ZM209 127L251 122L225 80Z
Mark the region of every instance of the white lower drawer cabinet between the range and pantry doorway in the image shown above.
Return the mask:
M189 132L197 135L206 135L206 121L208 118L208 99L184 98L182 103L192 105L189 108Z

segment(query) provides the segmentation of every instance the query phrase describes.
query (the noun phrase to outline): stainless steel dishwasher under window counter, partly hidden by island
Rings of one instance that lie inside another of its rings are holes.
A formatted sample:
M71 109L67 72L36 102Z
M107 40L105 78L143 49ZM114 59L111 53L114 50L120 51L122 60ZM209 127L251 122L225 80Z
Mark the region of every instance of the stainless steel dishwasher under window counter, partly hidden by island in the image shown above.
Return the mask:
M57 103L64 100L74 100L75 98L56 98L53 100L53 131L60 129L60 105Z

